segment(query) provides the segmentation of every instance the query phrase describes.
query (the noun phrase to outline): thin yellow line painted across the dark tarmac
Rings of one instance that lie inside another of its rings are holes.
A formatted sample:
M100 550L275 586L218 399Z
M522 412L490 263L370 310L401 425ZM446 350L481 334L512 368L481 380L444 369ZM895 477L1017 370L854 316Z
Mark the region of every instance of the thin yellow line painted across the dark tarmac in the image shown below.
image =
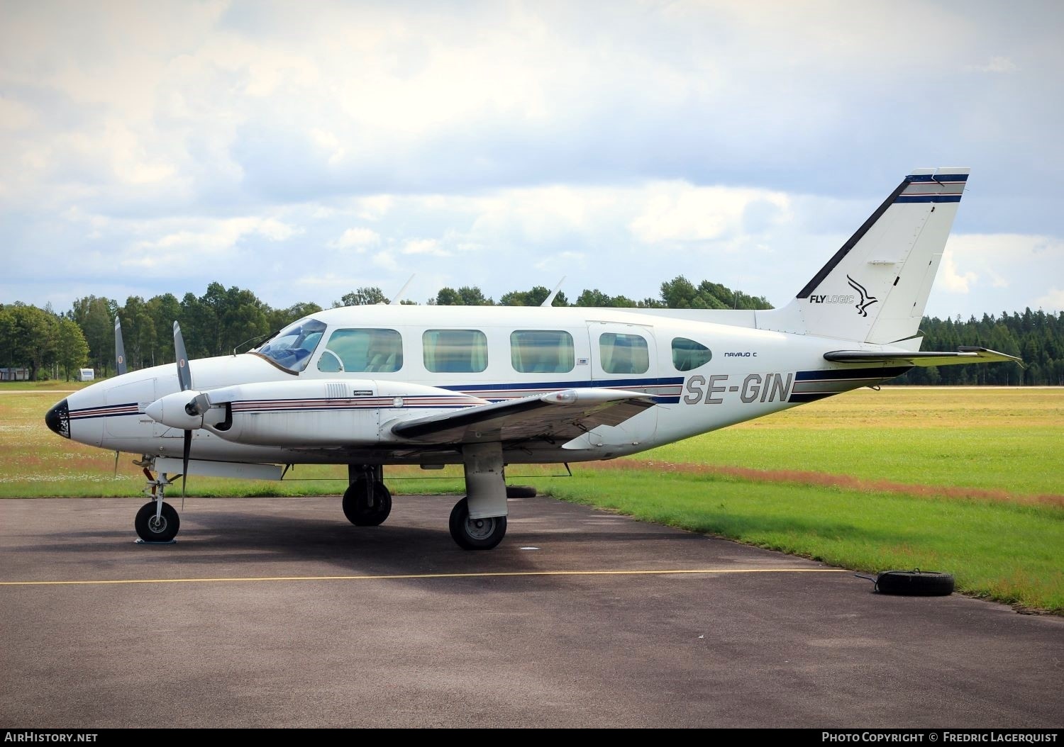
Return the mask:
M671 576L730 573L850 573L845 568L672 568L667 571L503 571L496 573L409 573L364 576L248 576L221 578L116 578L84 581L0 581L0 587L95 587L122 583L246 583L251 581L399 581L519 576Z

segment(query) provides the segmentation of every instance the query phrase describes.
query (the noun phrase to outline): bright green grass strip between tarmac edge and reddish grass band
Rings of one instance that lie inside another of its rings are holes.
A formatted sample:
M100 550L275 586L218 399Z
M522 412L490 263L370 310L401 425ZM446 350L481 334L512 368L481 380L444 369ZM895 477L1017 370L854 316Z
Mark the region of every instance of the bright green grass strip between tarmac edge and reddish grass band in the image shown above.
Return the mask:
M859 571L945 571L959 591L1064 613L1064 509L583 469L554 497Z

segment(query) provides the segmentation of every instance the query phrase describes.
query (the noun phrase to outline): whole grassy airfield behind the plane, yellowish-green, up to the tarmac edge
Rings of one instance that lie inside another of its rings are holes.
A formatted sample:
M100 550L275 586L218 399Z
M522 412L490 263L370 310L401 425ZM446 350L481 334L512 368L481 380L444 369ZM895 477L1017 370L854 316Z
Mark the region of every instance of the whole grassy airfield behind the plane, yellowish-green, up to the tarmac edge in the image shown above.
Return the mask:
M0 496L140 493L131 457L115 477L112 455L45 428L53 391L3 391ZM573 465L572 478L548 476L556 472L509 471L511 481L647 521L855 570L949 571L967 593L1064 612L1061 389L860 390L631 459ZM461 490L458 470L425 474L389 469L389 487ZM297 466L293 476L194 477L189 493L334 494L346 482L338 466Z

